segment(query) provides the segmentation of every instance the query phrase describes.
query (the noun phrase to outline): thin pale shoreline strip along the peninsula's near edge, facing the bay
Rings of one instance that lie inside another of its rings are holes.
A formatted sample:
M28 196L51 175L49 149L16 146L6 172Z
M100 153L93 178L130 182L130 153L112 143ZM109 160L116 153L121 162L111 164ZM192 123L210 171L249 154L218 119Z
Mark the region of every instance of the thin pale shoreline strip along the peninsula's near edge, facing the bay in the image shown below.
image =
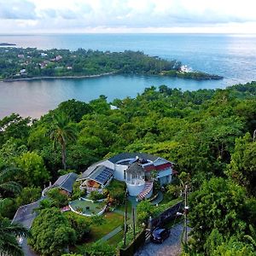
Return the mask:
M1 79L0 82L19 82L19 81L32 81L32 80L43 80L43 79L93 79L103 76L115 74L116 72L100 73L95 75L84 75L84 76L62 76L62 77L34 77L24 79Z

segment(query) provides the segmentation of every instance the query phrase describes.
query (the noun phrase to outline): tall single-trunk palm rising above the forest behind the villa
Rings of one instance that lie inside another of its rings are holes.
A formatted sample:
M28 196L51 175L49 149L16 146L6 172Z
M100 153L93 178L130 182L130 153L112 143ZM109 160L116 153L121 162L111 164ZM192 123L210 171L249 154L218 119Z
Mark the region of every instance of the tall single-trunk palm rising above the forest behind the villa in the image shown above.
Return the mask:
M70 120L66 114L60 113L54 116L50 138L53 140L54 148L56 143L61 145L62 165L66 170L67 141L75 141L77 138L75 127L70 125Z

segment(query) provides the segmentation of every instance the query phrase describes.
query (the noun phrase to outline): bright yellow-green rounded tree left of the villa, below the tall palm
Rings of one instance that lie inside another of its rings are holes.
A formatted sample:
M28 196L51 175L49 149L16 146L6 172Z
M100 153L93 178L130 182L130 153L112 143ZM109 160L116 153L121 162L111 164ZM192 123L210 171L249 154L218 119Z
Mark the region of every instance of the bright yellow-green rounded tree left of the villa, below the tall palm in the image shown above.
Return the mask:
M44 160L36 152L26 152L16 160L20 168L18 179L26 186L42 187L49 181L49 172L44 167Z

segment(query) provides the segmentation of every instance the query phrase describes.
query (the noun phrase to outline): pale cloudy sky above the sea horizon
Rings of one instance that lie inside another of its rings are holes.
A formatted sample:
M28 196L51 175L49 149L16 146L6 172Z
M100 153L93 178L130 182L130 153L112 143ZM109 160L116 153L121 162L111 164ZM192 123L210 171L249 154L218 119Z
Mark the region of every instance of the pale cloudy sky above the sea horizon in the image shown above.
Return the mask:
M0 0L0 33L256 33L255 0Z

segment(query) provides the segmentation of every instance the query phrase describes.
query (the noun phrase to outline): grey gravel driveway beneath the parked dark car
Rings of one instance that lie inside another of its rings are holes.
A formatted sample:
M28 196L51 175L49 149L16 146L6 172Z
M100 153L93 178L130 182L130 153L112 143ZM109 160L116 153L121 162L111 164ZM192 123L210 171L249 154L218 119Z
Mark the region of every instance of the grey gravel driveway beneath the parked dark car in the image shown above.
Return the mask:
M177 256L182 252L181 236L183 224L176 224L172 227L170 236L162 244L149 242L141 247L135 256Z

